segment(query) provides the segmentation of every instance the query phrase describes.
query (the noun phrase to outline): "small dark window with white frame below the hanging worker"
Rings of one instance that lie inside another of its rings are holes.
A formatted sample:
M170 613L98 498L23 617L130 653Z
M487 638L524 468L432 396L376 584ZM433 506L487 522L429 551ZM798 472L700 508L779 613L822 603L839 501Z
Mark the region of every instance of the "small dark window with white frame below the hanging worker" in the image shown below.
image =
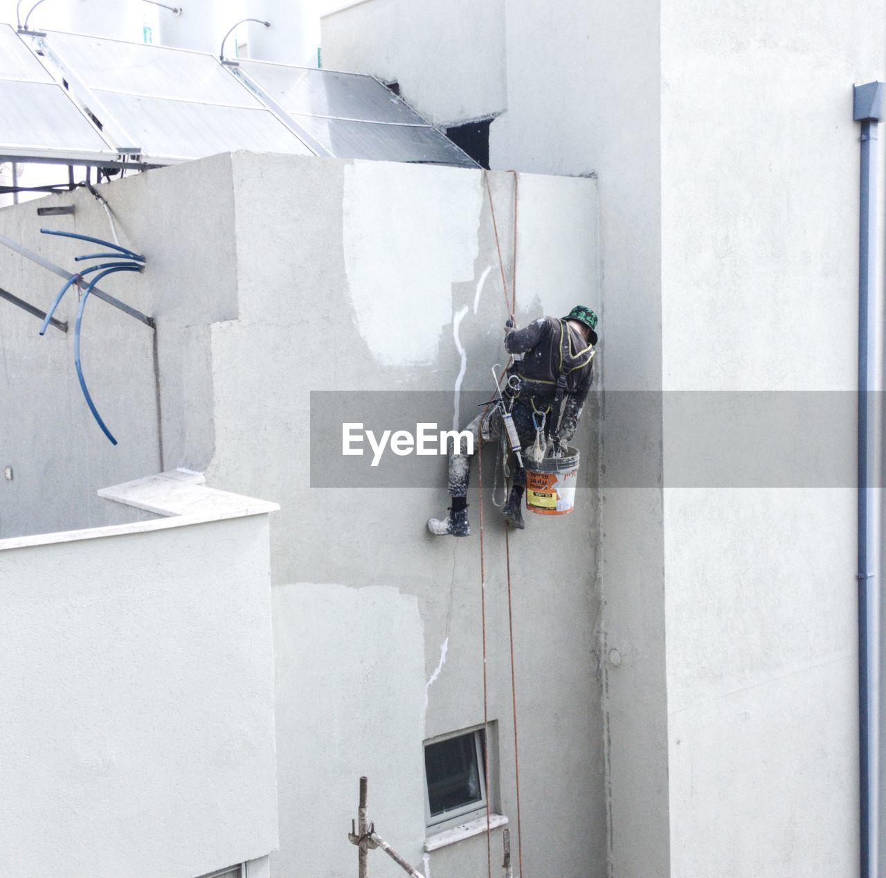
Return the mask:
M429 827L486 810L485 753L483 729L424 745Z

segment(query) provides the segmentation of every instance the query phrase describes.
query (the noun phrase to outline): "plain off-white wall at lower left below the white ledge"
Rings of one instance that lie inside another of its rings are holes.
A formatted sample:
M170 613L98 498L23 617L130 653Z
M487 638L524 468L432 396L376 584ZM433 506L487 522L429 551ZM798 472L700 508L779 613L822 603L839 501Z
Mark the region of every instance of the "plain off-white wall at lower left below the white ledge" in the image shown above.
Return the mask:
M194 878L276 847L268 517L120 530L0 542L4 874Z

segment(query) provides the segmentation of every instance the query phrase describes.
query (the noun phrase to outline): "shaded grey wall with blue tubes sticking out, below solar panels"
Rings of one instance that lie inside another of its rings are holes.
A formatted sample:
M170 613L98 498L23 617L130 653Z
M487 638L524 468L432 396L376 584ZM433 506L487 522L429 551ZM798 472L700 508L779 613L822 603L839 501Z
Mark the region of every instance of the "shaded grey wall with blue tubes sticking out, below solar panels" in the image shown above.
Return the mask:
M154 184L155 173L149 171L102 188L121 243L148 260L144 275L113 275L102 288L156 316L160 355L175 350L186 361L207 363L209 315L222 320L236 315L236 261L232 248L221 243L233 236L233 186L207 183L226 174L229 179L229 167L229 159L220 156L206 160L203 175L185 168ZM49 203L74 205L75 214L38 217L37 207ZM41 235L41 227L111 238L105 212L84 190L0 211L0 233L62 268L74 270L75 255L94 252L85 242ZM5 290L46 310L61 284L45 268L0 248ZM97 490L162 470L161 445L174 466L196 469L211 455L208 408L162 426L158 418L158 394L164 404L181 410L185 400L206 397L211 374L194 368L167 370L159 377L152 330L143 323L98 299L90 299L83 318L83 371L99 412L119 440L114 447L89 414L77 384L76 296L69 292L58 308L59 319L69 324L66 335L50 328L40 338L35 317L5 301L0 307L0 369L8 400L0 419L0 466L13 470L11 482L0 481L0 536L132 520L135 510L99 500Z

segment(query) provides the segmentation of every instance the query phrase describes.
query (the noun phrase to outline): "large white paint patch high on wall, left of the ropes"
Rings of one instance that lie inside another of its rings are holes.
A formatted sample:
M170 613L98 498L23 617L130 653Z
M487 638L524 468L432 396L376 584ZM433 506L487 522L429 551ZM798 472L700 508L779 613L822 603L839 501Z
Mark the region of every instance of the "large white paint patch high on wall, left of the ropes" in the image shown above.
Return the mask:
M343 245L362 338L382 364L430 362L452 285L474 278L480 178L451 168L345 167Z

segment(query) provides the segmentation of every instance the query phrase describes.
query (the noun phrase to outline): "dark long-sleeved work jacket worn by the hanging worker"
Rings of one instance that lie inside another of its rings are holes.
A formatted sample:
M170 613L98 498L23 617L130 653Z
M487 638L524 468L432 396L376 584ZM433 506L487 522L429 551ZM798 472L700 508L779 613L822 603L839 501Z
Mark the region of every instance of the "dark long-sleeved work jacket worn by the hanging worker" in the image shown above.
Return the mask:
M522 330L509 332L504 339L509 354L525 354L517 362L517 375L534 396L553 396L557 377L566 375L566 392L573 407L580 410L591 389L594 346L564 320L540 317Z

